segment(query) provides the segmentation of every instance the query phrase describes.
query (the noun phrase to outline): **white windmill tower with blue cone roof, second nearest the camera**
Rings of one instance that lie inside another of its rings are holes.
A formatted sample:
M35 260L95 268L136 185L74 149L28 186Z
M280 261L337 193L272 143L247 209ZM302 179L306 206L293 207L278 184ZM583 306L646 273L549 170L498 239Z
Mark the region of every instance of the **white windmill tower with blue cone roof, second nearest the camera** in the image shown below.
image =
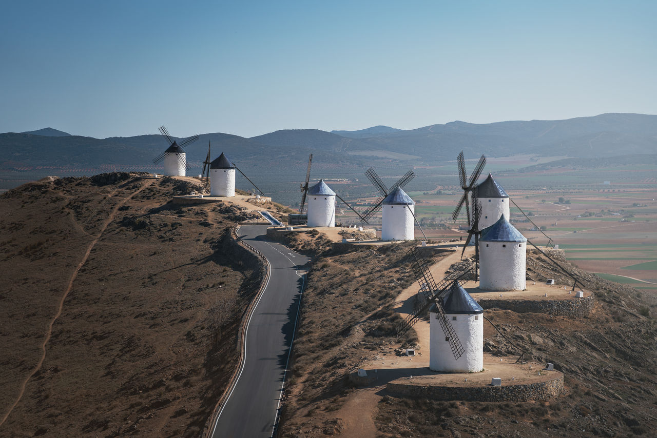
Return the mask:
M479 239L479 288L525 290L527 239L503 215Z

